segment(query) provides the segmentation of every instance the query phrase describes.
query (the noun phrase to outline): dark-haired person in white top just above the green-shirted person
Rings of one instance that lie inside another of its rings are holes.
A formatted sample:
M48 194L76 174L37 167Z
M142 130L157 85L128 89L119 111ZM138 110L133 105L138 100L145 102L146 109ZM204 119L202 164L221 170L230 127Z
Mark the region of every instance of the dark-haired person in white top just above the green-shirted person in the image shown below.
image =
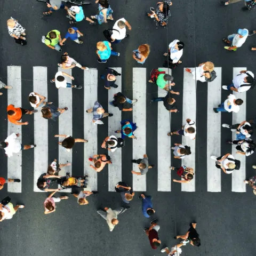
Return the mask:
M169 44L169 51L163 54L165 57L169 55L169 59L168 61L164 62L163 67L174 69L177 66L179 66L182 63L180 58L182 57L183 54L183 48L183 42L179 41L178 39L172 41Z

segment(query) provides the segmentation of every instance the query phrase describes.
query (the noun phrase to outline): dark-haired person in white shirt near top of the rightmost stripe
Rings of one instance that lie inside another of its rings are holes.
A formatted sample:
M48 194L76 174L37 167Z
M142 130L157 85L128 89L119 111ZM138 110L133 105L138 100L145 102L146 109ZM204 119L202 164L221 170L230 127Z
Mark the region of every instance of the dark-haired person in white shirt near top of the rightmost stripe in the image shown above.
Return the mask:
M230 85L222 85L222 89L235 92L246 92L251 89L254 82L254 74L248 70L240 71L240 74L233 78Z

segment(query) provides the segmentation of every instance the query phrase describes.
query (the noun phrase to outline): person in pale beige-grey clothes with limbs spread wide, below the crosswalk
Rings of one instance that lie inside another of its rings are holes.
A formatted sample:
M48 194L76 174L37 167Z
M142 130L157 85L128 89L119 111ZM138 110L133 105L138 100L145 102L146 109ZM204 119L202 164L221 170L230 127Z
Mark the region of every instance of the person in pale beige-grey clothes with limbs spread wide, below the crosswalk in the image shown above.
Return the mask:
M130 206L118 207L115 210L105 207L105 211L98 210L97 212L101 215L103 219L107 221L109 231L113 231L115 226L119 223L119 221L117 220L118 215L124 213L128 209L130 209Z

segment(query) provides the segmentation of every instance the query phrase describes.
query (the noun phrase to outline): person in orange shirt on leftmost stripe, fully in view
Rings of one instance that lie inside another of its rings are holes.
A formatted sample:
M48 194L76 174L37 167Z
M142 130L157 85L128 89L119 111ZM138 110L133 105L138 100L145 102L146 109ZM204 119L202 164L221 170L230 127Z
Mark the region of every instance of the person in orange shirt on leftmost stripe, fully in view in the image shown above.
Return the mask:
M36 113L37 110L27 110L23 108L15 108L14 105L7 106L7 117L8 120L17 125L28 125L28 122L19 122L23 115L32 115Z

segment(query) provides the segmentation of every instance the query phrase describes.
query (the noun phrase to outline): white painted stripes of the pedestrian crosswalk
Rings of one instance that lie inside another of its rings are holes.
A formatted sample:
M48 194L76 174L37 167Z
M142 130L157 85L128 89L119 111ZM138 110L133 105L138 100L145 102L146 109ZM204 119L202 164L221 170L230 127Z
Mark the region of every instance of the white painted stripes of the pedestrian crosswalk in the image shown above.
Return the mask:
M118 73L122 74L122 68L116 68ZM167 69L164 69L168 73ZM246 70L246 68L234 68L234 75L238 74L240 70ZM57 70L56 70L57 71ZM72 75L71 69L62 70L65 73ZM215 114L213 112L213 107L218 106L221 102L221 67L215 68L218 76L211 82L211 86L207 86L207 191L209 192L221 192L221 175L223 175L220 169L216 169L214 162L210 159L211 155L220 156L221 155L221 114ZM147 146L147 69L146 68L133 68L133 99L138 99L135 103L132 111L133 121L137 123L139 129L135 131L135 136L138 138L132 140L132 157L133 159L141 158L146 152ZM169 70L169 74L172 71ZM86 113L86 110L93 106L93 103L98 98L98 83L100 81L100 74L98 74L97 69L84 70L84 106L79 108L79 111L84 113L84 138L88 140L88 143L84 143L84 172L83 174L89 174L90 177L90 187L92 190L98 190L98 173L89 167L90 162L88 158L93 154L98 154L98 125L92 123L92 115ZM67 78L68 82L71 79ZM47 86L50 78L47 77L47 67L33 67L33 89L35 92L44 95L47 98ZM19 66L9 66L7 67L7 83L9 85L15 86L14 90L8 90L7 101L8 105L13 104L16 107L22 106L21 102L21 67ZM113 100L113 95L117 92L122 91L122 77L117 76L116 84L117 89L111 88L108 91L108 101ZM196 102L196 83L193 80L191 74L187 73L184 68L183 73L183 106L182 106L182 124L185 124L186 119L190 118L196 121L197 117L197 102ZM176 89L176 88L175 88ZM57 90L57 89L56 89ZM68 111L60 115L58 118L59 134L71 135L73 134L73 113L72 107L76 104L72 99L72 89L59 89L58 99L59 107L68 107ZM236 94L236 93L235 93ZM158 97L164 97L166 92L158 88ZM239 98L244 100L244 106L246 106L246 93L239 93ZM46 119L42 118L40 109L39 113L34 116L34 141L37 147L34 151L34 191L39 192L36 186L38 177L47 171L47 166L53 159L48 159L49 140L55 140L56 144L58 141L62 141L63 138L48 138L49 123ZM111 122L108 122L108 134L114 134L115 130L120 128L120 121L122 119L122 111L118 108L111 107L111 113L114 114L111 118ZM241 108L241 110L233 115L233 124L241 123L246 116L246 108ZM176 174L171 173L169 166L171 163L171 138L167 137L167 132L170 132L170 118L171 115L169 111L163 106L163 102L158 103L158 115L156 118L157 122L157 190L158 191L172 191L172 178ZM104 120L103 120L104 122ZM21 133L21 126L13 125L8 123L8 134L12 132ZM155 133L156 134L156 133ZM199 133L197 133L198 137ZM19 138L21 141L21 137ZM128 139L130 140L130 139ZM194 192L196 191L196 140L190 140L188 137L182 137L183 145L188 145L191 148L192 154L180 161L181 165L186 165L192 167L195 171L195 178L190 183L182 183L181 191ZM232 154L236 156L237 159L241 160L241 169L239 172L233 172L230 174L232 178L232 191L234 192L245 192L246 188L243 183L245 179L245 157L242 155L235 154L235 148L232 149ZM199 152L197 151L197 154ZM9 183L7 185L7 190L12 193L22 192L22 157L26 155L25 152L20 151L19 154L14 154L13 157L7 160L7 176L9 178L18 178L21 180L20 183ZM122 148L118 148L114 153L110 153L111 161L113 164L108 165L108 191L115 191L115 184L122 180L122 167L125 163L122 163ZM62 147L59 147L59 162L60 163L72 163L72 154L67 151L63 151ZM129 160L130 161L130 160ZM150 159L149 159L150 162ZM107 167L105 167L107 169ZM133 170L137 170L138 167L133 164ZM65 171L61 171L60 174L65 174L66 172L72 173L72 166L65 167ZM82 175L82 173L81 173ZM132 175L132 174L131 174ZM132 175L133 183L132 187L134 191L147 191L147 175ZM61 191L70 191L61 190Z

